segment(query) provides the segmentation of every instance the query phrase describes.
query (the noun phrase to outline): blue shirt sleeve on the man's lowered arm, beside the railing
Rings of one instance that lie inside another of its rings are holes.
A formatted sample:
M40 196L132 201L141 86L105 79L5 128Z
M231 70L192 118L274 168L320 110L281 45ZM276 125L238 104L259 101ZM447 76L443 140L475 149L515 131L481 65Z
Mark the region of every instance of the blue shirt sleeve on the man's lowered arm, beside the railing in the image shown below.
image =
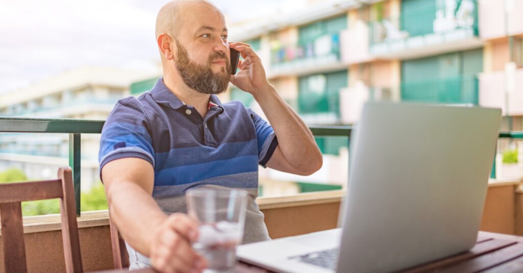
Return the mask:
M154 167L154 150L149 122L143 107L134 97L119 100L101 131L98 162L101 169L120 158L137 157Z

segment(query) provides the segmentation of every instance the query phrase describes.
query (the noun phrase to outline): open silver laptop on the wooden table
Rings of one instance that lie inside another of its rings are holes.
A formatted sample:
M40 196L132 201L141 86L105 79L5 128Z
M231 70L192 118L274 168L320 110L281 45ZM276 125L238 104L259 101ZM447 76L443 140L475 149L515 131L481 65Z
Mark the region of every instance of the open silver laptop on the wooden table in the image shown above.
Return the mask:
M350 144L342 228L238 246L278 272L390 272L476 242L501 110L367 103Z

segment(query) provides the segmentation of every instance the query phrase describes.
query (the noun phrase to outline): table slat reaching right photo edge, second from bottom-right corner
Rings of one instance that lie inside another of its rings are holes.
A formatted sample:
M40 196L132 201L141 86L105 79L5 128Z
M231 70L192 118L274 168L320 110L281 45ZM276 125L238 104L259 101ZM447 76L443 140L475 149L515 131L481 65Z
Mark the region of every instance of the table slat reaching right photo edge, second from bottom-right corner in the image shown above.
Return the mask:
M476 257L471 260L467 260L458 265L454 265L448 268L444 268L439 272L446 273L466 273L466 272L478 272L486 270L497 265L501 265L511 259L523 256L523 243L516 243L504 247L498 251L484 254L480 257Z

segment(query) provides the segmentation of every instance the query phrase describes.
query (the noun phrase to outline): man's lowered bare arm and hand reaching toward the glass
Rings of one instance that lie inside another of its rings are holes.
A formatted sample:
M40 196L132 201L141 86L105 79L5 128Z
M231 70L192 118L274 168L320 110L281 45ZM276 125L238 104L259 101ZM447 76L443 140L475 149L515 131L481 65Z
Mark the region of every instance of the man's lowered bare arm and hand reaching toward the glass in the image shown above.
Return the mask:
M102 169L111 220L123 239L151 258L161 272L199 272L206 262L191 248L198 223L181 213L167 216L152 197L154 170L140 158L110 161Z

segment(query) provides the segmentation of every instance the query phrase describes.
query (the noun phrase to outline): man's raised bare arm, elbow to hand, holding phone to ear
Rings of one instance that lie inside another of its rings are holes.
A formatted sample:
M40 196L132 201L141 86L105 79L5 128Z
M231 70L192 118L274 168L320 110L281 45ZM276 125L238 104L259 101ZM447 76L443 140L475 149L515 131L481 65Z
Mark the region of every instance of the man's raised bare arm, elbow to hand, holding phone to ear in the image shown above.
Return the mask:
M301 175L319 170L323 157L311 131L269 84L260 58L246 43L230 46L244 58L238 64L240 72L231 76L232 83L253 95L278 137L278 147L267 167Z

